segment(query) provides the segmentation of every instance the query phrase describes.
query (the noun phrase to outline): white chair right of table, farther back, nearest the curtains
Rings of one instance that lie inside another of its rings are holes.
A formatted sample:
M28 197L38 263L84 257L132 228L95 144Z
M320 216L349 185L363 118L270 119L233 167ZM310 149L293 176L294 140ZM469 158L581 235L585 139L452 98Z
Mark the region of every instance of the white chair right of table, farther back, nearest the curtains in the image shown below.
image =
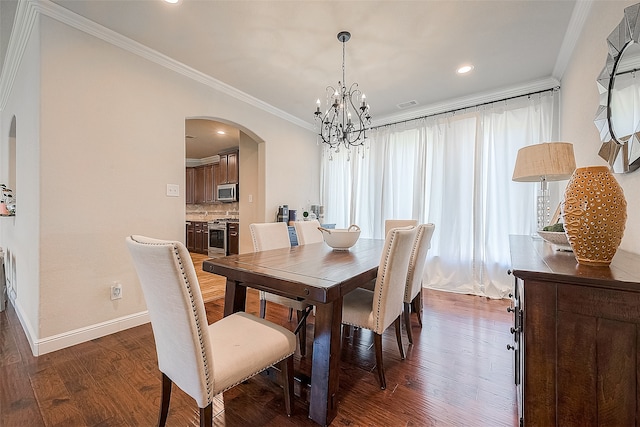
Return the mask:
M409 342L413 344L411 332L411 312L416 313L418 323L422 327L422 277L427 263L427 252L431 247L431 237L436 226L434 224L420 224L416 233L416 240L409 259L407 281L404 290L404 322Z

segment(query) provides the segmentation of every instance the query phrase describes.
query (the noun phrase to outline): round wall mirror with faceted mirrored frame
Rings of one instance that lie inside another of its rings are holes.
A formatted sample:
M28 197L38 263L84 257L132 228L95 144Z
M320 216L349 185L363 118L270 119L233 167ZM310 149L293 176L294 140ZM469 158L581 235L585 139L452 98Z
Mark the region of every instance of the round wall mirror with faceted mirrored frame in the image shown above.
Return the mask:
M602 146L598 154L615 173L640 167L640 3L624 10L607 38L609 53L597 80L600 106L595 125Z

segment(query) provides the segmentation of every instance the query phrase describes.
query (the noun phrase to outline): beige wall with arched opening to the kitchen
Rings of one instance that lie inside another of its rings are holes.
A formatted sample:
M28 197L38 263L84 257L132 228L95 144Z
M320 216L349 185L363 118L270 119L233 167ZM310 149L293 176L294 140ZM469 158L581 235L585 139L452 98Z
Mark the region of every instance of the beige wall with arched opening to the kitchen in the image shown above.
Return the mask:
M3 225L2 237L3 246L28 244L18 265L26 268L28 260L29 271L19 272L19 279L33 292L19 295L18 302L29 307L36 353L146 321L124 238L139 233L184 240L186 117L225 118L264 141L258 151L267 162L261 166L265 217L281 200L319 193L312 132L51 18L40 19L41 74L25 64L36 74L29 81L41 82L40 105L33 96L25 98L38 93L34 84L14 88L2 112L3 124L22 109L30 116L18 117L16 230L6 233ZM35 45L38 34L31 37ZM36 55L37 49L31 55L37 65ZM27 154L25 136L33 145ZM3 146L6 139L2 135ZM166 197L169 183L181 186L181 197ZM27 219L33 229L18 229ZM38 254L39 264L32 263ZM109 299L114 281L123 285L121 300Z

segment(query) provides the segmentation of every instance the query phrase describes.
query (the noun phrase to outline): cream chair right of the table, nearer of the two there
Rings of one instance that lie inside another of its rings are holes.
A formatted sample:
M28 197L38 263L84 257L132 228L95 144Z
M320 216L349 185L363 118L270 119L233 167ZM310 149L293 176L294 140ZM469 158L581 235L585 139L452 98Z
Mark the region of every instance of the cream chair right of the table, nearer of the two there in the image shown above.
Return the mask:
M373 291L356 288L343 299L342 323L369 329L374 333L378 380L383 390L387 387L387 383L382 363L382 333L392 323L395 324L400 358L404 359L400 316L403 312L402 301L407 269L416 232L416 227L391 229L385 239Z

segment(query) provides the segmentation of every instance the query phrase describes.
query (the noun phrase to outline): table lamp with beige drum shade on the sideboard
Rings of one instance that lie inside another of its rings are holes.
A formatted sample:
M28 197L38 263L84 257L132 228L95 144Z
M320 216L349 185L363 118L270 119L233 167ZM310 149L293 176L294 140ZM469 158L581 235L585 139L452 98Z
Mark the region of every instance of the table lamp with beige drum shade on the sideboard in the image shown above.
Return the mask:
M549 225L549 181L569 179L576 168L573 144L569 142L543 142L518 150L512 181L539 182L536 199L538 230Z

